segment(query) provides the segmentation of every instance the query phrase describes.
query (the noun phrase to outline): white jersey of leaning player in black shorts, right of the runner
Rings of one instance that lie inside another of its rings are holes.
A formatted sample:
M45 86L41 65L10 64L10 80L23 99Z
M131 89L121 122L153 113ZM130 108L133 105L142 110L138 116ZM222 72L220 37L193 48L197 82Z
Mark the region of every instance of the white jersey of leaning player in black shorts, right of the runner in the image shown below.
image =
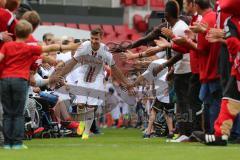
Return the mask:
M168 83L166 82L167 69L162 70L156 77L153 76L153 68L165 63L167 60L158 59L153 61L148 69L142 74L148 81L154 81L156 89L156 97L160 102L169 103Z

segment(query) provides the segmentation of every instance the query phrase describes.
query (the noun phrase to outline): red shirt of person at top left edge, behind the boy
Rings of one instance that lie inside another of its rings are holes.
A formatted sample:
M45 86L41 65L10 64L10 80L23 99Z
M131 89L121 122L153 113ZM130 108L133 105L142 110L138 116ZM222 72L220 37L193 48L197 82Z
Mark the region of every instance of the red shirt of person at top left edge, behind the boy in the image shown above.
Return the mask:
M17 20L14 15L7 9L0 8L0 32L8 31L14 34L14 29L17 24ZM13 36L15 38L15 36ZM2 48L4 42L0 42L0 49Z

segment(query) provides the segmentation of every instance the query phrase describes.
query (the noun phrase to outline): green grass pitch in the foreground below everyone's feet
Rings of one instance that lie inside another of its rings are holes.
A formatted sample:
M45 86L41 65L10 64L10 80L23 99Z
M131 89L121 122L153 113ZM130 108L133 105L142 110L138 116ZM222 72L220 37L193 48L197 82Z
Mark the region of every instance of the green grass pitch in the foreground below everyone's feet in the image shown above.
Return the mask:
M28 150L0 149L0 160L238 160L240 145L208 147L199 143L166 143L142 139L136 129L105 129L104 134L81 138L25 141Z

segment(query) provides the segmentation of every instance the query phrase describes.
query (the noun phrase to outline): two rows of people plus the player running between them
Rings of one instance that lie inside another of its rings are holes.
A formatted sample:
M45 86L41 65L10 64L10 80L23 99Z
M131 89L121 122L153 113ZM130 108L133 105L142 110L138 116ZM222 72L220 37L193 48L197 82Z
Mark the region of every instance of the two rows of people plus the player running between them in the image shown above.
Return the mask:
M40 16L20 2L0 0L4 149L25 149L24 137L36 135L88 139L106 126L140 128L144 139L239 143L239 13L231 0L214 8L169 0L165 20L121 53L101 43L99 28L90 40L46 33L37 41ZM131 51L141 45L147 50ZM135 70L125 77L112 54Z

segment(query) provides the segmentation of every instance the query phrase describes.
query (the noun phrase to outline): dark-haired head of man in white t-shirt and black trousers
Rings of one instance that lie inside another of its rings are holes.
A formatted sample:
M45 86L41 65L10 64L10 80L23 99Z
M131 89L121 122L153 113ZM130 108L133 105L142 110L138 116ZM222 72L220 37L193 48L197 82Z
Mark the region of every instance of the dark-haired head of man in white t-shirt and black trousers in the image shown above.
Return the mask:
M167 2L165 7L165 12L168 16L177 19L179 15L179 5L175 0L170 0Z

